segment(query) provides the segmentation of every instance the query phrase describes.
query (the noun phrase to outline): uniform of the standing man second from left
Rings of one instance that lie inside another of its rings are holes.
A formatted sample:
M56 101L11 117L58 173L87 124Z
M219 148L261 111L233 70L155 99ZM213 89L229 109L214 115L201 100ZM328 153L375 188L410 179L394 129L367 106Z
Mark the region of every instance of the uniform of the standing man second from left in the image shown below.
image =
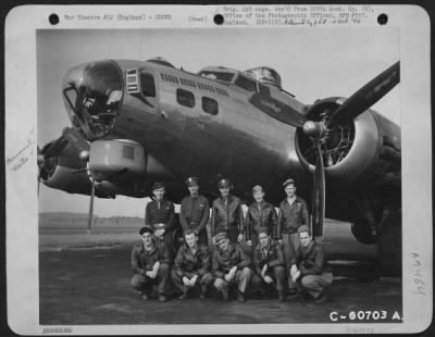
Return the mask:
M206 197L187 196L183 199L179 208L179 223L183 230L194 229L199 238L198 242L206 246L208 242L206 225L209 219L209 200Z

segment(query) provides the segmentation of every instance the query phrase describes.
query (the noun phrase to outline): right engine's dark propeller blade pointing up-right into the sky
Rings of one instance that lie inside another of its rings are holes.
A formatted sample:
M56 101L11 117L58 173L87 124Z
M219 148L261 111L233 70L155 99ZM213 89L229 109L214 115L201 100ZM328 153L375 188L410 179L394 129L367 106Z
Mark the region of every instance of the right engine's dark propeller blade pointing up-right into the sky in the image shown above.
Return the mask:
M349 97L331 116L327 127L353 120L381 98L387 95L400 82L400 61L377 75L365 86Z

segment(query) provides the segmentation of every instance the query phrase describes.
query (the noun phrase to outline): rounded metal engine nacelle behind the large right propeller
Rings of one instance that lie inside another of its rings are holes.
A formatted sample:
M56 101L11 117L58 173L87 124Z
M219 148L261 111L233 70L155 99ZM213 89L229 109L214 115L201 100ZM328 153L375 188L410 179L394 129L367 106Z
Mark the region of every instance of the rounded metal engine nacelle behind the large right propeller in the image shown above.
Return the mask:
M341 98L327 98L311 107L308 118L327 121L344 102ZM314 171L315 151L312 140L301 130L296 133L296 151L301 163ZM400 129L372 110L360 114L347 125L330 130L322 143L325 175L340 184L372 182L400 184Z

